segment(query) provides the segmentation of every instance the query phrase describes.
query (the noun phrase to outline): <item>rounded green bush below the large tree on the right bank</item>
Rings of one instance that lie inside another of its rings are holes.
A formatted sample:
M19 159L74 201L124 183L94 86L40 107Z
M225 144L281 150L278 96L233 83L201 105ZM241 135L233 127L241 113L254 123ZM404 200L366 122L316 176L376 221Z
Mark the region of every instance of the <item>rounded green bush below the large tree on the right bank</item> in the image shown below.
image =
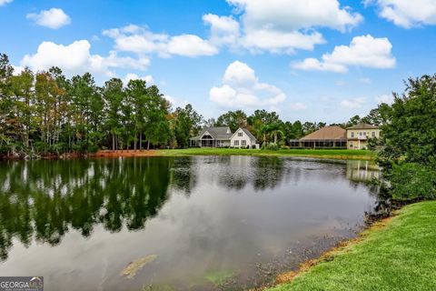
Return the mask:
M388 178L395 199L436 198L436 170L430 166L415 163L393 165Z

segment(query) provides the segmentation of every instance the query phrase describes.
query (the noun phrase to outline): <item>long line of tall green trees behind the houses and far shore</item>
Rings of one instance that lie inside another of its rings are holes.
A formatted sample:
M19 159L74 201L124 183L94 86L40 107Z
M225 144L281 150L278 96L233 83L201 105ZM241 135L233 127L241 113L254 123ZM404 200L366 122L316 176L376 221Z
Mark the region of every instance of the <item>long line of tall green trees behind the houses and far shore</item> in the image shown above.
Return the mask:
M379 108L361 119L353 116L342 127L364 121L383 122ZM93 75L67 78L59 67L15 72L8 56L0 55L0 155L3 157L87 154L99 149L143 150L183 148L203 126L246 127L262 145L286 146L291 139L325 126L322 122L282 121L264 109L246 115L229 111L205 120L192 105L176 107L156 85L112 78L99 86Z

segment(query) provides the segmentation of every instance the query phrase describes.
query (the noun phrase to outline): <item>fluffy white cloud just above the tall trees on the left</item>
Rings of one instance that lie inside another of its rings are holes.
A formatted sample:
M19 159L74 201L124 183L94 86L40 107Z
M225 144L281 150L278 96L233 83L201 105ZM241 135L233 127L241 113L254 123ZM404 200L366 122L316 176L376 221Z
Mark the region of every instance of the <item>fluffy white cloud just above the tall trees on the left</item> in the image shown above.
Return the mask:
M113 68L130 68L145 70L150 64L148 58L134 59L120 57L115 52L108 56L91 55L91 45L87 40L75 41L71 45L57 45L43 42L34 55L25 55L22 66L32 70L47 70L51 66L59 66L66 75L84 74L90 72L97 75L114 76Z

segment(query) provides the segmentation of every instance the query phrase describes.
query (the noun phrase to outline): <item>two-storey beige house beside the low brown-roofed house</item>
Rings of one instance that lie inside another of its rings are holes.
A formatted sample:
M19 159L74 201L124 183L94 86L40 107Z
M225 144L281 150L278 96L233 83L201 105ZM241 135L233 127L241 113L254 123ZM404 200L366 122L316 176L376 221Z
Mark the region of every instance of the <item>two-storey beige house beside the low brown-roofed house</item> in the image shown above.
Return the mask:
M360 123L347 128L347 148L366 149L368 139L380 137L380 129L374 125Z

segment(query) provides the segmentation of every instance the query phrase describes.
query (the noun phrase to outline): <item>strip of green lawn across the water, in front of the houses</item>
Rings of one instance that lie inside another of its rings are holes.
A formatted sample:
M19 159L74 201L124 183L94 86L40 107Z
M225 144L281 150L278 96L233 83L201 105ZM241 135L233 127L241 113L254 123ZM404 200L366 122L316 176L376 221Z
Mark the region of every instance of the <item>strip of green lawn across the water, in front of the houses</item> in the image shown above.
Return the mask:
M187 149L163 149L157 151L158 156L304 156L341 159L373 159L375 152L368 150L350 149L281 149L278 151L260 149L239 149L239 148L187 148Z

